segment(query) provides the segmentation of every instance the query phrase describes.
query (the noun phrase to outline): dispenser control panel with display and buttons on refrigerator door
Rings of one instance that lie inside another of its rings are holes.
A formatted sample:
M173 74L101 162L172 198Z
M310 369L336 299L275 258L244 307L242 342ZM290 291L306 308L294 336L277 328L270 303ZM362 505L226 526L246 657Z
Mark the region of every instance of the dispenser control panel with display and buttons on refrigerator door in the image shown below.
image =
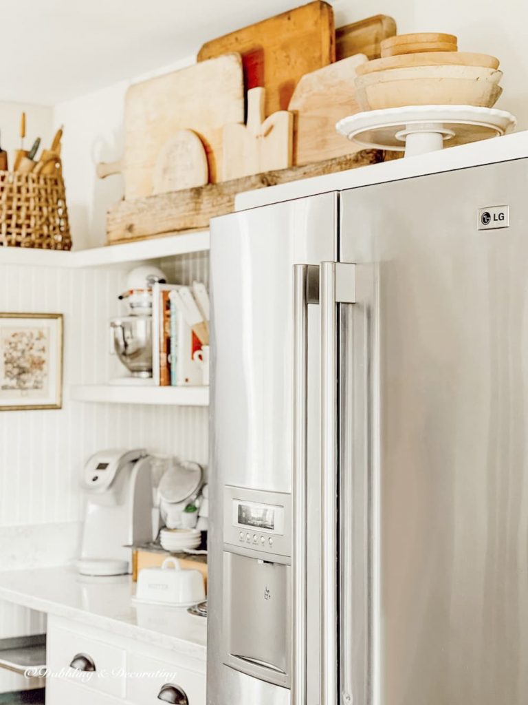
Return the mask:
M291 556L291 495L226 486L224 542Z

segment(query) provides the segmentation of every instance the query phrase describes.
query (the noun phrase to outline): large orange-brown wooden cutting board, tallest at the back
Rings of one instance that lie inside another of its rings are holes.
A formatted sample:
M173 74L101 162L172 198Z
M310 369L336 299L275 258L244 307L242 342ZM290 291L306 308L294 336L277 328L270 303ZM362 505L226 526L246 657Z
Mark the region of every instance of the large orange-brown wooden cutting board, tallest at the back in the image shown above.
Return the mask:
M298 80L335 61L334 13L310 2L203 44L198 61L238 51L246 90L265 87L265 115L286 110Z

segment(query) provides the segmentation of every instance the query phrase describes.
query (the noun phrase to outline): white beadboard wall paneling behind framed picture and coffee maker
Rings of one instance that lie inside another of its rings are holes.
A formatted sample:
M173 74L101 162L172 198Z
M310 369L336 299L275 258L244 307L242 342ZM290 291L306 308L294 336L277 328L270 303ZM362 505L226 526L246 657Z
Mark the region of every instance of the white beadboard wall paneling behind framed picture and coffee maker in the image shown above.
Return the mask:
M208 281L208 256L161 263L169 281ZM132 269L132 267L130 268ZM78 478L104 448L144 446L206 464L208 410L85 404L70 384L100 384L125 370L109 354L108 319L127 270L0 266L0 312L64 314L63 409L0 412L0 527L82 518Z

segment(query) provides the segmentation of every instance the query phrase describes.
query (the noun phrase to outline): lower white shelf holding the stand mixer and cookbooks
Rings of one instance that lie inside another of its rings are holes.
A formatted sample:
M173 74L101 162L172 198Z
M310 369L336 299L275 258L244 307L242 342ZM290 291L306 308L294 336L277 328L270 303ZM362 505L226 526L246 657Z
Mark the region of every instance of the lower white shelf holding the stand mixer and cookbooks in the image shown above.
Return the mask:
M158 387L118 384L80 384L72 386L70 398L113 404L172 404L175 406L208 406L209 388Z

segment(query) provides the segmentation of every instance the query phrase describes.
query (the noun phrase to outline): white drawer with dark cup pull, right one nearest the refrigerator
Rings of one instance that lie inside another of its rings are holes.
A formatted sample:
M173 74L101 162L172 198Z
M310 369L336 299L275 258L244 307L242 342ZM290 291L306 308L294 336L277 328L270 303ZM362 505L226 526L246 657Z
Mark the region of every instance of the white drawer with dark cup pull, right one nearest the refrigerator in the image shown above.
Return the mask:
M141 654L128 655L127 702L161 705L158 694L170 683L187 695L189 705L206 705L206 675Z

